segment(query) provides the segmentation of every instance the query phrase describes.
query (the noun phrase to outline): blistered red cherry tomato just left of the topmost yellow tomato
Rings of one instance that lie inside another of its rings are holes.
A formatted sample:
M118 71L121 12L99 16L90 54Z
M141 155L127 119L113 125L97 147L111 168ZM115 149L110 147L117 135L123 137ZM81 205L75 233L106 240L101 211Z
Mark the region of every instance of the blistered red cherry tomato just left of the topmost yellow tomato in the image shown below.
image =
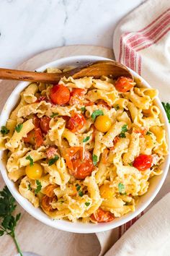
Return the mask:
M82 114L74 114L71 119L69 119L66 127L71 130L71 132L77 132L79 129L84 127L86 119Z

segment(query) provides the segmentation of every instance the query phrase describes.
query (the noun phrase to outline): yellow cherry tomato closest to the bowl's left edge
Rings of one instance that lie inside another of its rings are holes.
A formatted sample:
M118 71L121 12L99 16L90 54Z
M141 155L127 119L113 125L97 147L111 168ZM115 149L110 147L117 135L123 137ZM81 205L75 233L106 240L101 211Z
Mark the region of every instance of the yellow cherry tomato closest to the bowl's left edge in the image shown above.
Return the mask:
M25 173L30 179L40 179L42 176L42 166L39 163L34 163L33 166L26 166Z

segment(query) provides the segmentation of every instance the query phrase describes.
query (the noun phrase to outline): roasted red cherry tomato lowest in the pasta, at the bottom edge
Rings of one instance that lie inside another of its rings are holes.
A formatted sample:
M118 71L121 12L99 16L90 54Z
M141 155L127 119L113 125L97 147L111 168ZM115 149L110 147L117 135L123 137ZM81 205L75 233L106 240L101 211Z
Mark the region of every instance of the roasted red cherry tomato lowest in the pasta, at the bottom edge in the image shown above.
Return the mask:
M99 208L93 214L91 214L90 218L92 221L109 222L113 221L115 219L115 216L109 211Z

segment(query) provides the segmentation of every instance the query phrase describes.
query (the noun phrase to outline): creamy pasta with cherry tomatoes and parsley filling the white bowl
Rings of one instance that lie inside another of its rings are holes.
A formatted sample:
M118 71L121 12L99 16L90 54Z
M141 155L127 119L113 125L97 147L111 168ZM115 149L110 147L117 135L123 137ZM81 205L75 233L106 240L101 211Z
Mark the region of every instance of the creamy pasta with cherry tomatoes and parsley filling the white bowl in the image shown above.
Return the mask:
M1 127L9 179L51 218L98 223L134 211L168 154L156 95L127 77L30 83Z

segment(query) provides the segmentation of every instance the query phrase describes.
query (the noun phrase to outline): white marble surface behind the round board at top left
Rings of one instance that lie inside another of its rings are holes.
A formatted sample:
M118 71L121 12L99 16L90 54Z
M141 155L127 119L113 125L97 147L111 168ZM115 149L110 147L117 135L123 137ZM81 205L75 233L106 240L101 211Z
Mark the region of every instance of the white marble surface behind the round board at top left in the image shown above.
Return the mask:
M112 47L117 22L143 0L0 0L0 67L58 46Z

